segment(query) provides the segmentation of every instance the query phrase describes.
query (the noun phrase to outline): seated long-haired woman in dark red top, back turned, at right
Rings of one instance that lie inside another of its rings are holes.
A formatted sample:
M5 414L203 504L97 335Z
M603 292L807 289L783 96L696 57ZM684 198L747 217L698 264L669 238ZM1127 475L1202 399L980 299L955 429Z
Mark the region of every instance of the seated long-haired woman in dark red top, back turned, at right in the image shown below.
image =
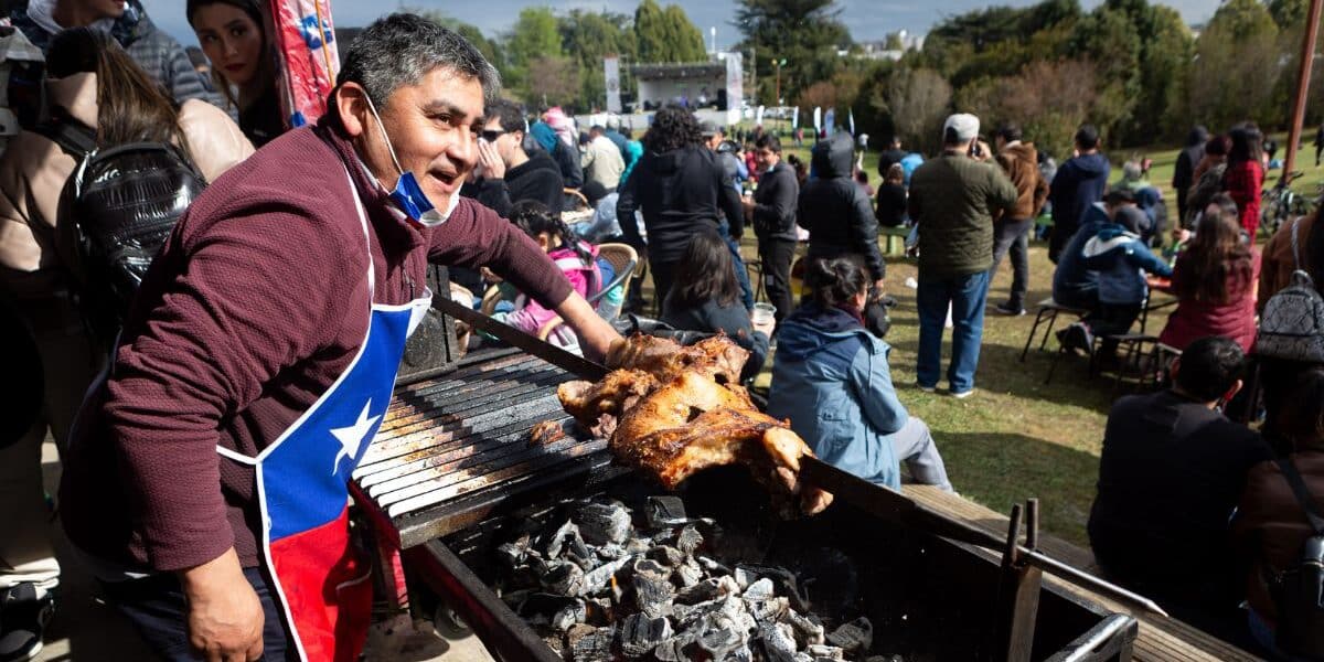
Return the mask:
M1192 342L1221 335L1250 352L1255 343L1255 282L1259 254L1242 242L1237 204L1214 196L1201 214L1172 273L1177 310L1158 340L1185 350Z

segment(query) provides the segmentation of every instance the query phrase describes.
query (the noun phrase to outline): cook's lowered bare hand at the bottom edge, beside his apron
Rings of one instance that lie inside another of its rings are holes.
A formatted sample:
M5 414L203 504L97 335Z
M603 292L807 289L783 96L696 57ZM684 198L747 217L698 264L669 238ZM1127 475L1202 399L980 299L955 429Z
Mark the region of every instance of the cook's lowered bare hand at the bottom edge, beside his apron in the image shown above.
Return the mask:
M208 662L262 659L265 616L232 547L201 565L181 571L188 598L188 642Z

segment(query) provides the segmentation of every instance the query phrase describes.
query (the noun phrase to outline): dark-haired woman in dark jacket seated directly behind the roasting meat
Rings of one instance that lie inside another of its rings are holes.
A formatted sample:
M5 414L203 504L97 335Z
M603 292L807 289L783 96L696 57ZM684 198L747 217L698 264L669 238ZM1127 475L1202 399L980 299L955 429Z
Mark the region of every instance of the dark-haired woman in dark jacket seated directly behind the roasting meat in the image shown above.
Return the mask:
M749 351L741 380L763 369L773 324L755 326L740 302L735 261L718 230L700 228L675 267L675 285L662 302L662 322L686 331L722 331Z

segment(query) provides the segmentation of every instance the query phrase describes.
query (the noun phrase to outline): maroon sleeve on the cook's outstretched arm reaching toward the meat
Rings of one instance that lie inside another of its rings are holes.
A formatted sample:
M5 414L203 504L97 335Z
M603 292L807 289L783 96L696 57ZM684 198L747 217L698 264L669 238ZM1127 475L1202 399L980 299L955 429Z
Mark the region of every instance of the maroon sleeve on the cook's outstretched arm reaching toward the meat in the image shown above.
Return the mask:
M534 240L471 200L462 200L446 222L433 228L428 260L470 269L486 266L548 310L572 291L565 274Z

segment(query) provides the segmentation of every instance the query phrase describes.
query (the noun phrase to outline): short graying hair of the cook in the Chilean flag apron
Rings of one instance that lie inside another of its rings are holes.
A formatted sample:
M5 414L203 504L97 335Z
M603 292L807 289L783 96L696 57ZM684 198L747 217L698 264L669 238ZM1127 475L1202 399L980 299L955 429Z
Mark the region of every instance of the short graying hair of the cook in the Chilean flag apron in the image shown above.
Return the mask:
M338 85L356 82L379 109L401 85L417 85L445 68L483 86L483 106L496 99L500 74L465 37L422 16L393 13L368 25L344 54Z

